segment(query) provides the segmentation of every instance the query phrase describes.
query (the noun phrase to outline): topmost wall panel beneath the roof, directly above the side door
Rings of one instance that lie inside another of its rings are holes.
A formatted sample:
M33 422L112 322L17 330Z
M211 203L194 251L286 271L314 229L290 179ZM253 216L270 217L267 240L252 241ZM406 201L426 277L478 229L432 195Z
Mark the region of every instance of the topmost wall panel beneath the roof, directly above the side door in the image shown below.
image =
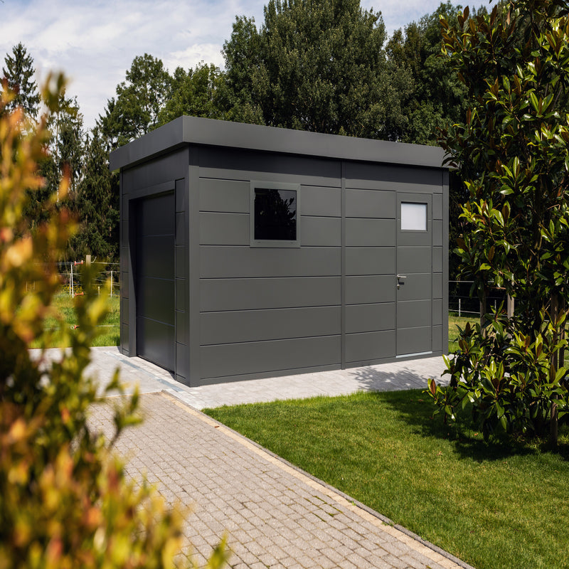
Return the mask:
M442 193L440 169L395 164L344 163L346 188Z

